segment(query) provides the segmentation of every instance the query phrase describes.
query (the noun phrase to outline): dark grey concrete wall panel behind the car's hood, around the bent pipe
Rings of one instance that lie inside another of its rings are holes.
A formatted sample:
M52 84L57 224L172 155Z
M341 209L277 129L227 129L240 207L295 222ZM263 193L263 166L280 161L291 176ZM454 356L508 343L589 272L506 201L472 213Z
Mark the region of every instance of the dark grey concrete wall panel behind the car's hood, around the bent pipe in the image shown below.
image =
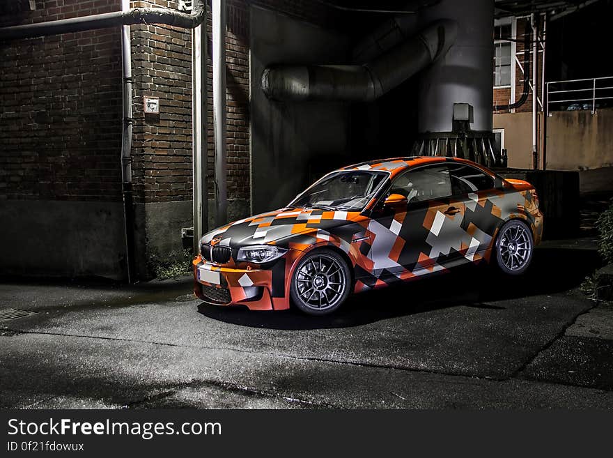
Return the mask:
M323 173L326 158L348 155L348 105L339 102L273 102L260 86L270 63L343 63L345 36L271 10L251 15L251 208L279 208ZM333 160L330 160L332 163ZM322 167L323 166L323 167Z

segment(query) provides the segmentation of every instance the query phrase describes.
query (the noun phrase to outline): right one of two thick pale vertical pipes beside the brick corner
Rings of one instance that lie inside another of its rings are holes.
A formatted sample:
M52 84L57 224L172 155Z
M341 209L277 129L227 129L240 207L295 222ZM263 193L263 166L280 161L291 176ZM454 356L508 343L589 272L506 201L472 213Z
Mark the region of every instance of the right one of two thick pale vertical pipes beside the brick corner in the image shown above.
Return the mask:
M226 0L212 0L213 123L217 226L227 222L226 189Z

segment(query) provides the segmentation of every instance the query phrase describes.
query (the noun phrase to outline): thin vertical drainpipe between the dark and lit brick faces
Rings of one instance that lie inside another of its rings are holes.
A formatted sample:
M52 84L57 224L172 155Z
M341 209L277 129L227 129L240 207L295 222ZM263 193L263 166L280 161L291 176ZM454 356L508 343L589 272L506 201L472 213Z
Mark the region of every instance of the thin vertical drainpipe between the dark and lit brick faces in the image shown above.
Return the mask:
M121 10L130 10L130 0L121 0ZM130 26L121 27L123 72L123 130L121 135L121 190L125 228L127 281L134 282L134 199L132 196L132 39Z

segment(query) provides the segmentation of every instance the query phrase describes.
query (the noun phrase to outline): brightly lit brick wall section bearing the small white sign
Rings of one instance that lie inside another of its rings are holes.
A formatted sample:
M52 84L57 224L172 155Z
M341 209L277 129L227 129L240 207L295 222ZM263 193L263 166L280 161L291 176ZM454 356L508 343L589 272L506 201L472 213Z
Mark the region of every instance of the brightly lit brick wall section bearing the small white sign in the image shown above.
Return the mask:
M132 1L132 8L173 1ZM192 199L192 38L172 26L132 26L134 135L132 173L137 202ZM143 96L160 98L160 115L145 116Z

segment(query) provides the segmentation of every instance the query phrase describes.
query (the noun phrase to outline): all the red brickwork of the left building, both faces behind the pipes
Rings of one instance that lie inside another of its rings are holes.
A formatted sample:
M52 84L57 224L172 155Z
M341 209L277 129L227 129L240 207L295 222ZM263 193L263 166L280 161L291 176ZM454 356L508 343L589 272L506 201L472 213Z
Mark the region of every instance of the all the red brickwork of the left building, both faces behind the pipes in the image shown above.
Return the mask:
M119 0L40 0L4 24L63 19L121 8ZM249 199L249 5L317 24L330 10L308 0L228 1L226 100L228 198ZM132 7L177 8L176 1ZM210 10L210 8L209 8ZM208 16L208 174L214 197L211 22ZM119 28L0 43L0 197L121 199L121 33ZM191 31L132 26L137 202L192 199ZM160 98L144 116L143 96Z

